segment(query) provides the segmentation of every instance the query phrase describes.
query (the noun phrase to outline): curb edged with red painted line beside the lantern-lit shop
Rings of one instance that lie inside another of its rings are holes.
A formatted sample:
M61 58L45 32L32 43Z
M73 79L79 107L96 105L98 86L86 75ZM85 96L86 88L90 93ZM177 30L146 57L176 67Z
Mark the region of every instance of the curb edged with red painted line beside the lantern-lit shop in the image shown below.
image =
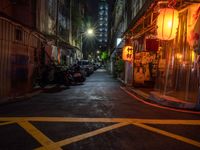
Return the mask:
M126 93L131 95L134 98L137 98L137 100L148 104L152 105L155 107L160 107L164 109L169 109L169 110L174 110L174 111L180 111L180 112L188 112L188 113L194 113L194 114L200 114L200 108L199 105L193 104L193 103L187 103L187 102L182 102L182 101L170 101L168 99L165 99L164 97L159 97L158 95L155 96L154 92L150 92L150 94L147 94L141 90L137 89L132 89L130 87L121 87L122 90L124 90ZM139 97L141 98L139 98Z

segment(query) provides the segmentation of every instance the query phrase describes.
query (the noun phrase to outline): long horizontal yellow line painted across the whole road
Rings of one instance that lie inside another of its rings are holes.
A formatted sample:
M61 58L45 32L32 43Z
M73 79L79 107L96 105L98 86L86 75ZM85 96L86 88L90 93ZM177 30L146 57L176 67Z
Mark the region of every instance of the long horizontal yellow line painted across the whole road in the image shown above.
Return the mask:
M0 121L6 122L129 122L144 124L180 124L180 125L200 125L200 120L176 120L176 119L137 119L137 118L67 118L67 117L5 117Z

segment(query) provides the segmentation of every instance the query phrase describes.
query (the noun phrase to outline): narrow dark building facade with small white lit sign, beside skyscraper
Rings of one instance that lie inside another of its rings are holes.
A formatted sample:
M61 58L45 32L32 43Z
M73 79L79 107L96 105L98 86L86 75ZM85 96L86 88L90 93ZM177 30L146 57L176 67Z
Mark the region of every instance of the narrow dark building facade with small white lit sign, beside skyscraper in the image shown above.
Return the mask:
M109 71L114 73L117 71L118 63L118 53L121 53L123 47L123 33L126 30L126 16L125 16L125 1L116 0L111 7L112 11L110 13L109 21L109 54L110 54L110 66ZM124 73L121 74L124 76Z

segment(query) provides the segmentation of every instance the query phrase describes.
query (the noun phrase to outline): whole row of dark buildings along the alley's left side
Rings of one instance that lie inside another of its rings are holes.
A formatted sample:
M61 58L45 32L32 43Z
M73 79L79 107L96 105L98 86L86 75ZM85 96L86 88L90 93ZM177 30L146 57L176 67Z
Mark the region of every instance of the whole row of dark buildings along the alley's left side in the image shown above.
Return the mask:
M72 0L1 1L0 103L32 91L43 66L81 59L73 43L72 5Z

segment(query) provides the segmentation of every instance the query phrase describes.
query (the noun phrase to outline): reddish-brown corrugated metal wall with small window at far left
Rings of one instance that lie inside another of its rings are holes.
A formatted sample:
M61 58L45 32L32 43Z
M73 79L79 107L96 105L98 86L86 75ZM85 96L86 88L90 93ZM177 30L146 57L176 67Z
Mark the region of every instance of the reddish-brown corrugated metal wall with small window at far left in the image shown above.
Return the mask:
M22 40L16 39L16 28L22 31ZM40 38L31 30L0 17L0 100L32 88L34 50L40 48L38 41ZM21 75L21 70L26 74Z

